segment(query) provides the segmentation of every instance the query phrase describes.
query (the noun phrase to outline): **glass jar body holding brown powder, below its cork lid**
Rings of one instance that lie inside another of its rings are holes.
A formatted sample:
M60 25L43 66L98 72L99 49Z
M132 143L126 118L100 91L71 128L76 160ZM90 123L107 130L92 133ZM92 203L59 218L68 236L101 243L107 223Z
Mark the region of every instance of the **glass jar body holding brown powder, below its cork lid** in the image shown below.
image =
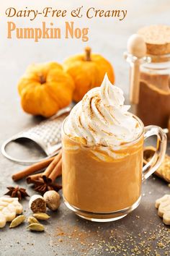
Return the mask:
M140 93L136 114L145 125L168 127L170 116L170 54L149 56L140 65Z

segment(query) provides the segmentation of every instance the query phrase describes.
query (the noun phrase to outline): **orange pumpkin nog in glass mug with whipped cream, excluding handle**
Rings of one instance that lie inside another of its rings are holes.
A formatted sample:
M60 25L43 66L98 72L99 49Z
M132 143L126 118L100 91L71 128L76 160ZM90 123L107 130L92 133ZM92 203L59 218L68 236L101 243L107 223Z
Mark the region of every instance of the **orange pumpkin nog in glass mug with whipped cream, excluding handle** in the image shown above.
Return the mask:
M144 127L124 100L105 75L63 123L63 198L91 221L122 218L140 202Z

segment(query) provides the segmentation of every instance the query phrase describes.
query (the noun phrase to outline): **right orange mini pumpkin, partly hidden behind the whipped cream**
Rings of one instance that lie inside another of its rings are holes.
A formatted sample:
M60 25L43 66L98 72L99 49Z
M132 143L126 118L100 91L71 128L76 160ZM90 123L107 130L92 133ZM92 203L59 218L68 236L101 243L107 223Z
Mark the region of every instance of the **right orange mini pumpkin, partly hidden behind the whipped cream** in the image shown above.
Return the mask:
M110 82L115 82L115 74L112 65L99 54L91 54L91 48L86 47L84 54L71 56L63 63L68 74L73 77L75 90L73 101L81 101L84 94L91 88L100 86L107 73Z

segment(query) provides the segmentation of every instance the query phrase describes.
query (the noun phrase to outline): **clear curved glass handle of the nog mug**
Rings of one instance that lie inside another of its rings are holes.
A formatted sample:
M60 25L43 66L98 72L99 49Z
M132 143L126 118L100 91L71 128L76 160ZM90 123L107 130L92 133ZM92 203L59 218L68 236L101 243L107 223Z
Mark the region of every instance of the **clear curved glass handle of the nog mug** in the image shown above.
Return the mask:
M166 144L167 144L167 137L163 129L161 127L157 127L156 125L148 125L144 128L144 140L148 137L156 135L157 137L157 145L156 145L156 152L154 153L153 157L151 158L145 166L143 166L143 181L148 179L153 172L161 165L162 161L164 160L164 156L166 153Z

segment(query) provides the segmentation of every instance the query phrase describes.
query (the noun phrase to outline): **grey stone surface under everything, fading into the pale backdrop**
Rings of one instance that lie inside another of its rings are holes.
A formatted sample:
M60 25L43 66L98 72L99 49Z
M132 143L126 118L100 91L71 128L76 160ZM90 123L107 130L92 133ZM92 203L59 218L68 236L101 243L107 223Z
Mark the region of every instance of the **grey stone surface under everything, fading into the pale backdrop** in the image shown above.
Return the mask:
M81 1L84 7L91 6L91 1ZM20 1L21 3L21 1ZM51 1L53 6L77 7L79 1ZM37 6L46 6L47 1L36 1ZM36 6L34 4L34 6ZM49 4L49 3L48 3ZM11 1L16 6L16 1ZM19 6L19 1L17 3ZM51 4L52 5L52 4ZM124 22L115 20L76 21L76 24L90 27L89 42L94 51L102 53L114 65L117 84L128 94L128 64L122 57L126 41L131 33L140 26L164 22L169 24L169 0L164 1L95 1L95 7L128 9ZM21 6L21 4L20 4ZM22 3L23 6L23 3ZM1 2L1 13L9 7ZM17 21L16 19L13 19ZM21 25L30 24L28 20L18 21ZM40 22L37 21L37 23ZM58 22L58 21L56 21ZM61 24L62 22L60 22ZM19 106L17 81L24 69L32 62L63 61L68 55L82 51L87 43L79 40L7 40L6 18L1 21L0 43L0 145L17 132L31 127L40 121L24 114ZM36 22L35 22L36 24ZM62 25L62 24L61 24ZM15 153L15 148L12 149ZM35 155L35 151L32 153ZM21 154L22 156L22 154ZM15 185L11 176L23 166L12 163L0 155L0 195L6 187ZM30 195L34 192L25 182L18 182L27 188ZM17 229L10 229L7 224L0 230L0 255L170 255L169 229L157 216L154 207L156 198L169 193L166 182L151 177L143 184L143 196L140 206L127 217L114 223L91 223L76 217L61 202L56 213L45 223L45 233L35 234L27 231L26 224ZM24 213L29 216L28 201L23 201Z

